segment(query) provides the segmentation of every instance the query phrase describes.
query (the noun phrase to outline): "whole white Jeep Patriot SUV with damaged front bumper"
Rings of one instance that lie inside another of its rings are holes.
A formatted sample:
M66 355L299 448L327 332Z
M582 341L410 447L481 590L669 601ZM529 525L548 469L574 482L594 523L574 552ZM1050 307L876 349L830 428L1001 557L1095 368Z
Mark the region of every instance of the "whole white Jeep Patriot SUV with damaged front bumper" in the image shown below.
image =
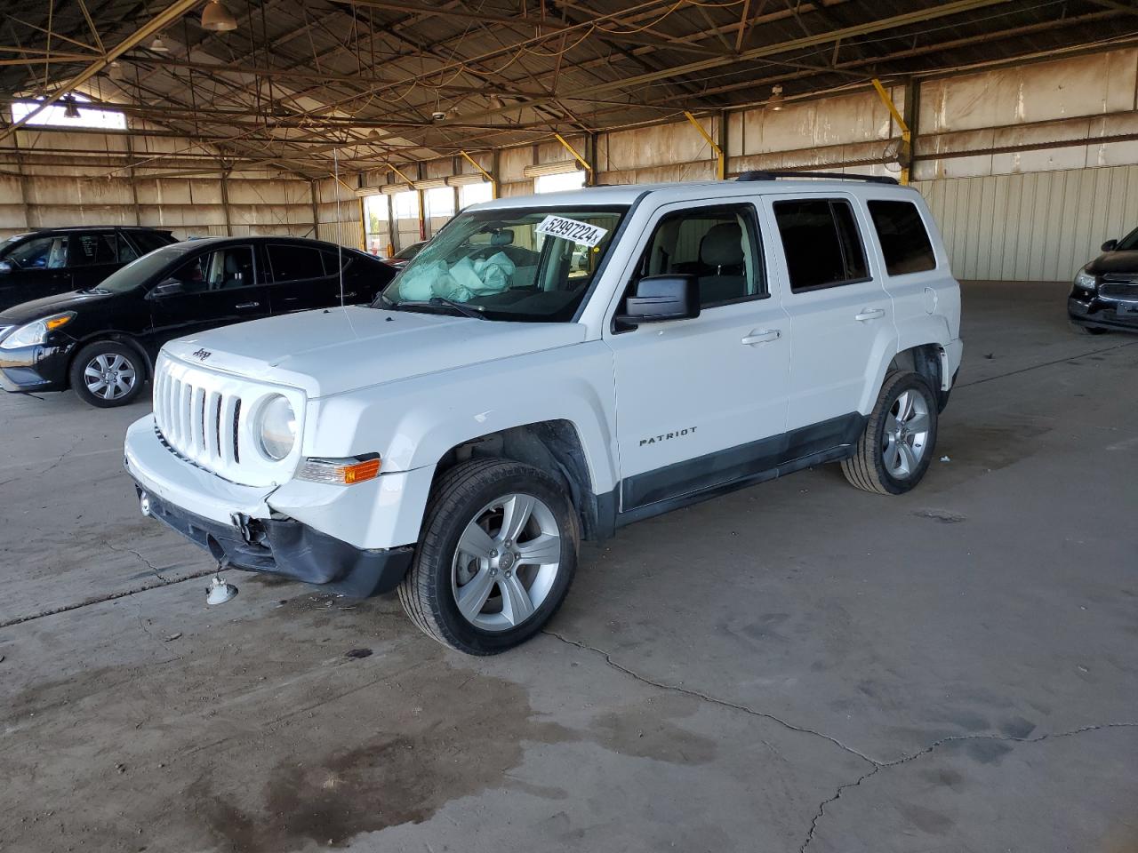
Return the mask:
M960 364L945 247L912 189L785 177L477 205L371 307L167 343L143 512L492 654L582 538L824 462L912 489Z

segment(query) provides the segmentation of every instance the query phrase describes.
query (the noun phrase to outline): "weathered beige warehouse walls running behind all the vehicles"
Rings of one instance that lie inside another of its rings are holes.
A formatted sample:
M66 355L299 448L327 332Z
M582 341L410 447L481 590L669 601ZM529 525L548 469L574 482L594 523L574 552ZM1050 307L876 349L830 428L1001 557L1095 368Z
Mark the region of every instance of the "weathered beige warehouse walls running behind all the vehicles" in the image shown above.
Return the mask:
M1138 223L1138 49L893 81L887 90L914 125L913 185L929 200L958 276L1066 279L1099 243ZM138 122L135 133L22 130L0 148L0 235L123 223L180 238L316 235L386 254L436 232L461 207L461 187L486 175L503 198L575 171L588 184L714 180L708 138L725 150L728 177L762 168L900 172L900 127L873 89L695 121L707 135L678 118L315 180L223 177L203 168L217 157L206 146L147 135L160 129ZM384 233L364 223L369 193L390 197L394 221Z

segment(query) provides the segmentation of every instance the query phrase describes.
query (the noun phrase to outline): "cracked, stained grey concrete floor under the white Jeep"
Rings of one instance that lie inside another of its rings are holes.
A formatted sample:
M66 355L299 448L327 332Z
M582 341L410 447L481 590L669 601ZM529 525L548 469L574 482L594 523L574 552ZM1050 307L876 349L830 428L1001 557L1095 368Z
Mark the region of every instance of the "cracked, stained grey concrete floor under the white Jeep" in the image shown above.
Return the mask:
M0 400L0 850L1135 851L1138 337L1065 290L966 288L915 492L626 529L490 660L390 598L206 610L121 470L146 405Z

